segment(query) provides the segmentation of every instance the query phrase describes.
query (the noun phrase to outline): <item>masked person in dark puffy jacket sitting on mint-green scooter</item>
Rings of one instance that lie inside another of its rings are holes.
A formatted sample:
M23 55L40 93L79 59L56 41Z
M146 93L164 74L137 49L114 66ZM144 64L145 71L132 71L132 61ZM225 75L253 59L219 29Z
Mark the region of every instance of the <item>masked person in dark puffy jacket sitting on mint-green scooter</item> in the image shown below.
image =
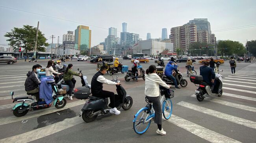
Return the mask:
M33 65L32 71L29 71L27 74L27 79L25 81L25 91L28 93L35 94L36 100L39 100L39 87L38 85L41 83L39 78L37 77L37 72L41 71L41 65Z

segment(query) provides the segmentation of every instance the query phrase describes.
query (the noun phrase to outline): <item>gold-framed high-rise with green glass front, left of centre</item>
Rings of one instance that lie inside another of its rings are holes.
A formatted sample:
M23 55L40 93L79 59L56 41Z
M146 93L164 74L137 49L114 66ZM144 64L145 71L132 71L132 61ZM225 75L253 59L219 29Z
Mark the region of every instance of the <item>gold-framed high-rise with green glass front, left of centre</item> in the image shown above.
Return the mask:
M79 25L75 30L75 49L85 50L91 47L91 30L88 26Z

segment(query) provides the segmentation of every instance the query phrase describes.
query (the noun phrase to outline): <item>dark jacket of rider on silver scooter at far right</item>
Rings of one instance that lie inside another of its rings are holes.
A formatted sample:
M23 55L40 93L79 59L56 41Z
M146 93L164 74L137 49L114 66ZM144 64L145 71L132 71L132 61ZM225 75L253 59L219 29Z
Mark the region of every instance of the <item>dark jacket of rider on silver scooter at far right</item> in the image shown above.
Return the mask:
M211 80L215 79L215 72L212 68L206 65L200 67L200 75L203 77L204 82L208 83L209 85L211 85Z

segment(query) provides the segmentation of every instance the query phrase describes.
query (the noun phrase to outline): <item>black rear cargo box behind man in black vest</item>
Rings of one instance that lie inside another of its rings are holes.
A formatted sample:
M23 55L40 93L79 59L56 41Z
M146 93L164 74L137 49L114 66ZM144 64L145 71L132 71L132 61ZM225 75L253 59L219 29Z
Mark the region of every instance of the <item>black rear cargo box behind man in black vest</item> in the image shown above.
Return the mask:
M74 96L77 99L87 99L90 94L91 94L91 89L88 85L85 85L84 87L78 87L74 91Z

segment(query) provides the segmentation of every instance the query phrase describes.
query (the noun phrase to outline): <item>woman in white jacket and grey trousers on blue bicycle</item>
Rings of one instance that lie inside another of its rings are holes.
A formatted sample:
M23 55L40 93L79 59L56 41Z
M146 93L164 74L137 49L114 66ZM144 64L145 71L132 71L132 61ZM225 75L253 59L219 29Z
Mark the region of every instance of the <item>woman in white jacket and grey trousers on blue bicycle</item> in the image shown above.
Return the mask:
M154 122L158 125L156 133L165 135L166 132L162 128L162 109L159 99L159 85L169 89L171 85L167 85L161 78L156 74L156 66L150 65L145 74L145 95L149 101L153 103L155 110Z

